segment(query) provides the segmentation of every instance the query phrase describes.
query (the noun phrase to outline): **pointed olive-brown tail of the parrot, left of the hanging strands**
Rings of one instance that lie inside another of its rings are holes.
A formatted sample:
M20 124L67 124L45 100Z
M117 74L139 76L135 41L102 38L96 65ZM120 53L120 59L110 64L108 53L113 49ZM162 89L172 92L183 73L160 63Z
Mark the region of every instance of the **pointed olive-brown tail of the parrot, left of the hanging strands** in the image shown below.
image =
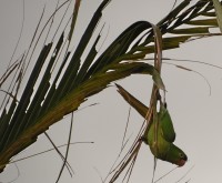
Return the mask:
M148 115L148 112L149 112L149 108L145 106L138 99L135 99L132 94L130 94L121 85L119 85L119 84L115 84L115 85L118 88L118 92L123 96L123 99L145 119L145 116Z

